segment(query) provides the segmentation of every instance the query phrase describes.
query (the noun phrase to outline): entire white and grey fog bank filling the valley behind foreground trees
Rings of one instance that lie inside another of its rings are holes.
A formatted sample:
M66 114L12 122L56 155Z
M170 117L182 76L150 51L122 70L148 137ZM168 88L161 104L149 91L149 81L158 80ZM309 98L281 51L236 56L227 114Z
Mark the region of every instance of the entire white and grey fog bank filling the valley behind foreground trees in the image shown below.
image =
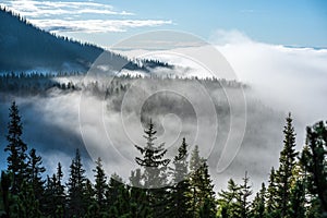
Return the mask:
M166 143L169 158L177 154L182 137L186 137L190 152L199 146L217 191L230 178L240 181L245 171L257 190L268 179L270 168L278 166L287 113L293 114L299 148L304 143L305 126L326 120L327 50L262 44L239 32L217 32L211 43L233 69L232 78L246 87L196 80L140 78L120 81L129 88L108 98L86 90L62 93L56 88L47 97L8 96L0 105L1 133L7 132L3 126L9 102L15 99L23 116L24 140L43 155L47 173L52 173L61 161L68 177L74 149L80 148L88 175L93 175L93 161L101 157L108 175L117 172L129 181L131 170L137 168L134 158L140 156L134 145L145 145L143 130L152 118L158 131L157 143ZM179 55L206 57L205 51L187 47L152 52L150 57L177 65L153 73L210 76L203 64ZM137 51L124 55L137 56ZM220 73L221 69L216 70ZM112 81L92 74L60 80L94 80L105 86ZM4 134L1 145L5 145Z

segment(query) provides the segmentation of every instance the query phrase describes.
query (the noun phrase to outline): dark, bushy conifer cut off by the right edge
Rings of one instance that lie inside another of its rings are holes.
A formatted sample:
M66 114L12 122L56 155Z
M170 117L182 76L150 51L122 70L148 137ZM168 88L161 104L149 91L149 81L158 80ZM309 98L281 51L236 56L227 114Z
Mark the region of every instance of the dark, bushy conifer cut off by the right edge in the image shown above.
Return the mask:
M327 128L323 121L306 128L306 146L301 164L307 172L308 191L319 201L327 215ZM314 202L316 204L316 201Z

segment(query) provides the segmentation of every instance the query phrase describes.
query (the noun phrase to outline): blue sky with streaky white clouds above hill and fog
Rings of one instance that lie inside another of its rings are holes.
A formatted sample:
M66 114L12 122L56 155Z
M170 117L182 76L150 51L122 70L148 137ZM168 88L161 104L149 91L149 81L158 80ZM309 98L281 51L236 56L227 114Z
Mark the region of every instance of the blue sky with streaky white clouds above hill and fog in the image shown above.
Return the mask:
M45 29L101 46L146 31L175 29L209 39L215 32L225 29L239 31L267 44L327 47L324 0L0 2Z

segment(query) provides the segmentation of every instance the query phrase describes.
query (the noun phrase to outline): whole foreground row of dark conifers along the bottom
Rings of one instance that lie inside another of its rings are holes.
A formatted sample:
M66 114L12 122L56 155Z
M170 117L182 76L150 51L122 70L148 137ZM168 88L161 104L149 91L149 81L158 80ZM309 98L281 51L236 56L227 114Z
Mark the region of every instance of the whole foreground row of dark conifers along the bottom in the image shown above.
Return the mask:
M145 143L135 145L138 165L130 181L106 174L101 158L95 161L94 182L87 178L78 149L72 158L69 180L62 165L45 177L43 158L22 140L23 125L15 102L10 107L4 150L7 170L1 173L1 217L197 217L197 218L322 218L327 216L327 126L320 121L306 129L306 143L295 150L291 114L286 118L279 166L268 183L253 193L245 172L238 184L214 191L207 160L195 146L189 157L183 138L173 159L149 121ZM46 178L46 179L45 179ZM162 186L162 184L166 184ZM252 195L255 195L254 198Z

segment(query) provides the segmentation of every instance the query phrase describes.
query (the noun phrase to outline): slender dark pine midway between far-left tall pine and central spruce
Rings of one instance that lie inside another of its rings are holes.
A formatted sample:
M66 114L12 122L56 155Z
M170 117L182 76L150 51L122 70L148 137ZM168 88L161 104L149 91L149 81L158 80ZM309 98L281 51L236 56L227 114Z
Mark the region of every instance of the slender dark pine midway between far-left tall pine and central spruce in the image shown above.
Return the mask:
M81 217L85 214L85 170L83 169L80 150L76 149L75 158L70 166L68 182L68 199L70 216Z

